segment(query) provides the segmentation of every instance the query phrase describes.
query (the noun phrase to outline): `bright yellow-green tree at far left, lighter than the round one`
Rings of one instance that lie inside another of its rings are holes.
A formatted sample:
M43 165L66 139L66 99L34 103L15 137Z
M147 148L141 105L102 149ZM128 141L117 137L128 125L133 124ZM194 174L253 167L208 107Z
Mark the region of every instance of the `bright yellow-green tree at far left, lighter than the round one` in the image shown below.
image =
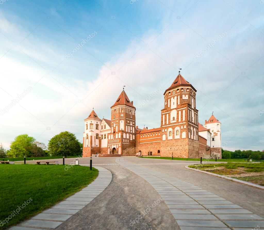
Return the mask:
M15 140L10 145L10 151L8 157L23 157L26 155L30 157L31 144L35 141L34 137L30 137L27 134L21 134L15 137Z

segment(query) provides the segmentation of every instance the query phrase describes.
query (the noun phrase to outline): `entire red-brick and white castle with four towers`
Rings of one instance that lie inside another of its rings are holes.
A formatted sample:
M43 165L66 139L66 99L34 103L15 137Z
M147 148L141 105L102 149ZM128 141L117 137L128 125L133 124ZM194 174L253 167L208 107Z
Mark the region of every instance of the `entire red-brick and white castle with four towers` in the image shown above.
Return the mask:
M111 120L92 110L84 119L83 157L160 155L221 158L221 123L212 116L198 122L196 89L179 73L164 92L161 126L136 126L136 108L124 89L111 106Z

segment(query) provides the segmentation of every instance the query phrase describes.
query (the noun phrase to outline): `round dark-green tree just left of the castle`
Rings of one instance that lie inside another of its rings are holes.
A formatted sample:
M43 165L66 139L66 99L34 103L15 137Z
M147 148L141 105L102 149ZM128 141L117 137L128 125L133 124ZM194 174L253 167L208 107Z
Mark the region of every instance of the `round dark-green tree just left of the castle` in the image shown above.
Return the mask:
M51 156L76 156L81 148L75 134L64 131L49 140L48 150Z

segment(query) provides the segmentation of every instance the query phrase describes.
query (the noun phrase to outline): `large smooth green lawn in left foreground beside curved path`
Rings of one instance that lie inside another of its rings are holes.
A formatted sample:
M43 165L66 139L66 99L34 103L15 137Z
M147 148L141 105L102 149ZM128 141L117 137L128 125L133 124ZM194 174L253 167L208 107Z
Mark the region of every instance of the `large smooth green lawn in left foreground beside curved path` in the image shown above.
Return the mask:
M67 171L64 168L65 165L1 164L0 229L49 208L81 190L98 176L95 168L92 171L80 165L74 165ZM21 210L18 206L22 206ZM2 226L6 218L9 222Z

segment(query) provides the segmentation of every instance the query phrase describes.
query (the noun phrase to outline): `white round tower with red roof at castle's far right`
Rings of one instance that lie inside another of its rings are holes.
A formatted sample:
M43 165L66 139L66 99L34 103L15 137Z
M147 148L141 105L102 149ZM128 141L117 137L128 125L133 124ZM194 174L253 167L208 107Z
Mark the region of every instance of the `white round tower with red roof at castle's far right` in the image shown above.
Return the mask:
M205 120L204 127L211 133L211 155L222 158L221 122L212 114L208 121Z

